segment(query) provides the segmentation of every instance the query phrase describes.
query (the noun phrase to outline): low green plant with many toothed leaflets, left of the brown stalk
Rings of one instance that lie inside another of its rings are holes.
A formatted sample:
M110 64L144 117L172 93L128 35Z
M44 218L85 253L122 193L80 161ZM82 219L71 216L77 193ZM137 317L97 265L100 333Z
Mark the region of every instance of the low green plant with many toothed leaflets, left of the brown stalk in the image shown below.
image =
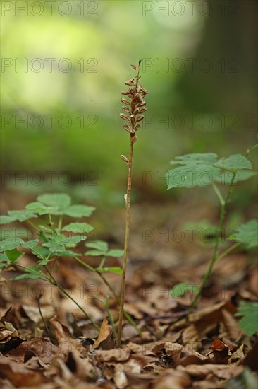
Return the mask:
M93 227L85 222L72 222L63 224L63 218L82 218L88 217L94 211L94 207L88 207L82 204L71 204L68 194L41 194L37 197L37 202L27 204L25 209L18 211L8 211L8 215L0 216L1 224L8 224L14 221L27 223L33 228L33 236L36 233L37 238L32 240L23 240L16 236L13 228L8 231L14 231L11 238L1 240L0 255L1 269L13 267L13 265L23 269L23 274L13 277L14 280L20 279L42 279L59 288L63 294L70 298L92 325L99 330L99 326L94 323L85 310L75 301L70 294L63 289L61 284L56 281L55 272L58 268L58 262L63 257L71 257L83 267L96 272L109 287L116 301L119 303L116 291L106 280L104 273L114 272L121 274L121 267L104 267L106 257L121 257L123 250L109 250L106 242L97 240L86 243L87 248L93 248L85 252L85 255L101 256L102 260L97 267L88 265L80 253L73 251L73 248L86 240L87 233L93 231ZM20 264L19 259L23 255L23 249L30 250L36 260L36 264L26 267ZM108 301L108 299L106 300ZM128 320L133 325L133 319L127 314ZM136 326L136 325L135 325Z

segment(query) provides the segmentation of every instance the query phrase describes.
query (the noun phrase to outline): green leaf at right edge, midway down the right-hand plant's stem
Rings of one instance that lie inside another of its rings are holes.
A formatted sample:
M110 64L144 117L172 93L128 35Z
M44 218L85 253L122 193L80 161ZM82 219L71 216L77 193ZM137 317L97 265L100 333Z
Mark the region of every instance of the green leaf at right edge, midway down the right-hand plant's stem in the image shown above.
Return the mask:
M231 235L228 240L237 240L237 242L244 243L247 248L258 246L258 223L257 220L252 219L238 228L238 232Z

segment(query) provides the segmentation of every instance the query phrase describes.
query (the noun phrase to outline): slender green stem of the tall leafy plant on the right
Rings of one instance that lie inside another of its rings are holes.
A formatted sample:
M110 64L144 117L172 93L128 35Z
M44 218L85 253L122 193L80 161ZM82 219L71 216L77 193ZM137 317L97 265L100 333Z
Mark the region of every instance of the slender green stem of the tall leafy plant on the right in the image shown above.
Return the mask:
M212 269L214 268L216 261L219 259L219 257L218 257L219 240L221 238L221 232L222 232L223 223L224 223L224 219L225 219L226 205L228 204L228 199L229 199L230 194L231 194L232 185L233 185L233 182L235 180L235 175L236 175L236 173L233 173L231 182L228 185L228 191L226 193L226 197L225 197L225 199L223 199L223 201L221 201L221 214L219 217L219 227L217 229L216 238L215 238L214 252L212 255L211 262L209 263L209 267L207 269L207 272L204 274L204 277L202 279L202 284L201 284L201 286L199 286L199 290L198 290L197 294L195 295L194 301L192 301L191 308L195 307L197 301L199 300L199 296L201 296L202 290L204 289L204 286L207 283L207 280L209 279L209 276L212 272ZM218 192L216 190L215 190L215 192L218 195Z

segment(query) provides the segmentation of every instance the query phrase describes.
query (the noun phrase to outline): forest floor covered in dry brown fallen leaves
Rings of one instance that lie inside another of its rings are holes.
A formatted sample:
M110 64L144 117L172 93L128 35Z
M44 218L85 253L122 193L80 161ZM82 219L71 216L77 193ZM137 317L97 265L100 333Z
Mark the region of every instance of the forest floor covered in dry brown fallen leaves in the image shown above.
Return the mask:
M11 196L5 201L9 209L19 208ZM94 298L110 295L97 274L64 257L56 279L101 326L99 334L54 286L38 279L11 281L17 269L2 272L0 388L258 388L257 335L245 334L235 317L241 299L257 301L257 267L246 251L226 256L190 310L193 286L202 281L212 245L196 243L178 226L217 219L212 207L191 204L183 201L180 211L171 205L171 216L168 204L133 206L125 310L140 333L124 320L121 349L115 347L104 306ZM123 248L124 209L102 212L98 223L97 238ZM85 260L94 266L97 259ZM22 261L35 263L30 254ZM119 293L120 277L107 274L107 279ZM172 298L171 288L180 282L190 288ZM112 296L109 308L118 323Z

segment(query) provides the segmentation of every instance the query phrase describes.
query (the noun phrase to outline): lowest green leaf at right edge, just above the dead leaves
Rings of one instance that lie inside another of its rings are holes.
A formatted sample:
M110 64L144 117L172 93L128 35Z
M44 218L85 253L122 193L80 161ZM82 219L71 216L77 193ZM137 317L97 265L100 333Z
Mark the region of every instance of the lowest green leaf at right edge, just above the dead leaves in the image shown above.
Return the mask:
M258 303L240 301L235 316L243 316L239 325L248 335L258 332Z

